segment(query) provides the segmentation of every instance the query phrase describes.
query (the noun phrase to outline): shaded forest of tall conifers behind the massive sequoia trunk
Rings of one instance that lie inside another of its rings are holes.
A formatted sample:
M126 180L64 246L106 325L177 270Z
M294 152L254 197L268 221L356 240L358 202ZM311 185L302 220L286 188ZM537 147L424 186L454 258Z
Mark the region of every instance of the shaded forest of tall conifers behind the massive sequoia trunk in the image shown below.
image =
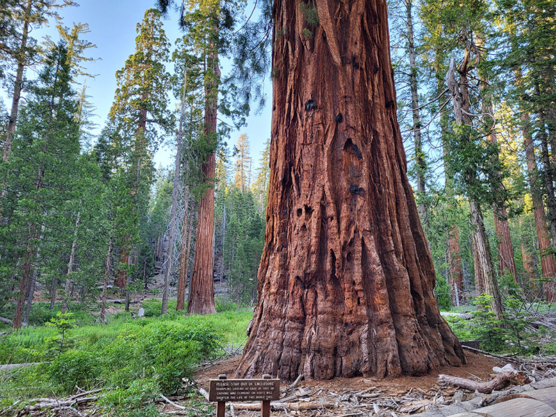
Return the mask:
M72 5L8 0L0 14L0 76L10 97L0 127L0 316L19 327L33 300L65 311L108 295L129 306L147 290L162 292L167 305L165 288L187 302L183 287L204 221L198 204L208 189L213 280L230 301L253 304L270 140L264 132L236 144L229 137L272 75L270 6L245 20L250 9L239 4L195 3L181 9L184 35L175 42L161 29L162 13L147 10L97 136L83 84L94 45L85 22L59 21L61 6ZM318 24L313 3L300 7L308 28ZM552 302L555 5L406 0L393 2L390 14L398 120L441 308L483 291L497 313L512 297ZM58 23L58 39L33 39L29 26L47 22ZM222 74L219 54L231 63ZM227 122L207 131L217 90ZM265 140L263 154L250 153L250 140ZM154 167L163 143L181 149L179 172ZM213 176L203 168L211 154Z

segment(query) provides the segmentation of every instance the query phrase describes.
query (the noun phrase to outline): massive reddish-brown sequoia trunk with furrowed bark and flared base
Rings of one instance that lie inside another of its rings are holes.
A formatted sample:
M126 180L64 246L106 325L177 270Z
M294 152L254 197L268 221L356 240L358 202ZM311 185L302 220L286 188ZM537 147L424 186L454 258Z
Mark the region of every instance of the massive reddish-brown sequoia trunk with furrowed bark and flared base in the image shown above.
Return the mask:
M407 180L386 2L275 0L274 11L268 222L237 375L385 377L463 363Z

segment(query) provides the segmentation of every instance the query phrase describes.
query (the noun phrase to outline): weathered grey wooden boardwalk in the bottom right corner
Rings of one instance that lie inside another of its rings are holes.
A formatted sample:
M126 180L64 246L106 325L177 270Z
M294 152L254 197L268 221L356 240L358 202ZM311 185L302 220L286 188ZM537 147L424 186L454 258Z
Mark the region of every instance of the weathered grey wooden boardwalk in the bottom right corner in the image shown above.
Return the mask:
M508 395L489 407L450 417L556 417L556 386Z

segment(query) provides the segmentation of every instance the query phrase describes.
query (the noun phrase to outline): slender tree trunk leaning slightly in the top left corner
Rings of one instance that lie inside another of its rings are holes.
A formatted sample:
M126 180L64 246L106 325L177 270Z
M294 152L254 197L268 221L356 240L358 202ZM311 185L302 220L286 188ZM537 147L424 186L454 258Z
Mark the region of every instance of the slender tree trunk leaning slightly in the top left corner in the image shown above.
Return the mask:
M12 110L10 112L10 118L8 119L8 129L6 130L6 140L4 141L4 152L3 159L8 161L8 156L12 150L12 138L15 133L15 125L17 124L17 113L19 113L19 100L22 97L23 90L23 73L25 70L25 49L27 48L29 24L31 19L31 8L33 6L33 0L27 0L27 6L24 11L24 24L22 31L22 39L19 47L19 56L17 58L17 70L15 72L15 80L13 83L13 95L12 95Z

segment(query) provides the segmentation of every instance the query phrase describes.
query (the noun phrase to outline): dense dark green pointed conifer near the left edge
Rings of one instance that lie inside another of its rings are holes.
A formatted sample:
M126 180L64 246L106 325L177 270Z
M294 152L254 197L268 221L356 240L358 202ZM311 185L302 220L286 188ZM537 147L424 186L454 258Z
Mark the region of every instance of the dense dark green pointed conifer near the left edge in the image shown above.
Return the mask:
M72 183L68 184L67 178L72 176L79 155L79 126L74 120L76 104L70 83L67 49L58 44L47 56L38 85L22 109L14 138L17 152L3 165L10 196L5 201L12 205L3 213L10 213L7 227L15 237L14 249L22 248L15 250L23 265L17 269L15 329L22 325L24 302L42 238L56 233L61 206L72 192Z

